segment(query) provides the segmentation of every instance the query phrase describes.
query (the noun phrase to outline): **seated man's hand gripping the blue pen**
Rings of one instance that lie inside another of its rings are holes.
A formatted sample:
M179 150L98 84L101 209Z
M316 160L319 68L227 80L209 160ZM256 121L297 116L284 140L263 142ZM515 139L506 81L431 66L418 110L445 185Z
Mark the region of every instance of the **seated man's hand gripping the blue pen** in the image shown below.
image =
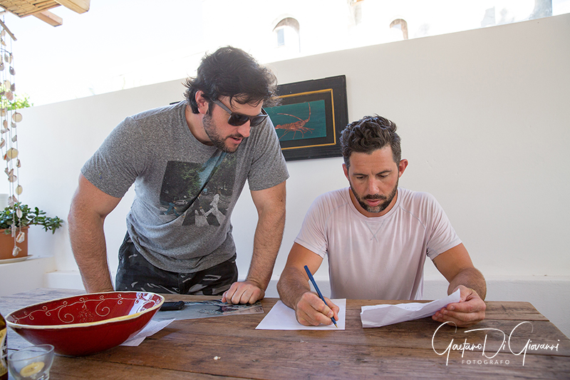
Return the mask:
M295 317L304 326L318 326L319 324L332 324L331 317L338 321L340 308L326 298L326 304L313 292L306 292L295 305Z

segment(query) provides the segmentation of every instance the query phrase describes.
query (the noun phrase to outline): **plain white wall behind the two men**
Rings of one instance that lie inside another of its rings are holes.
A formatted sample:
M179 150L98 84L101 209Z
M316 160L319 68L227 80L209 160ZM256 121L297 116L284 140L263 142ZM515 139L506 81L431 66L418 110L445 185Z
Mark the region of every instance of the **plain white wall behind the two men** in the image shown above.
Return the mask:
M346 75L349 119L378 113L398 123L403 156L410 160L400 185L439 200L475 266L492 280L489 297L546 299L524 287L532 288L534 279L560 280L559 304L539 311L569 334L569 37L566 14L304 57L271 68L279 83ZM22 111L22 200L66 217L81 165L110 130L127 115L182 98L181 82ZM312 200L346 186L341 158L288 166L288 214L274 279ZM128 193L105 224L112 269L132 199ZM249 266L254 214L244 192L232 216L240 277ZM76 270L66 229L55 236L33 231L30 245L38 254L53 254L59 271ZM326 269L316 277L326 280ZM445 292L430 263L426 277ZM509 286L514 290L504 290ZM519 286L522 292L516 291Z

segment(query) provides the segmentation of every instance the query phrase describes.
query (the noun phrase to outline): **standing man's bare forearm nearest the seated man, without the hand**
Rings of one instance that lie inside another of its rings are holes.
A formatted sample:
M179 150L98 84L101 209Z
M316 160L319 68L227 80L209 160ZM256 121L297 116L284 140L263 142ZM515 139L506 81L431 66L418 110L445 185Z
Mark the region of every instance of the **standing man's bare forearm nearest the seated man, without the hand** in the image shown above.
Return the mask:
M267 289L275 260L281 247L285 227L285 205L279 210L267 210L259 215L254 236L254 252L247 280Z

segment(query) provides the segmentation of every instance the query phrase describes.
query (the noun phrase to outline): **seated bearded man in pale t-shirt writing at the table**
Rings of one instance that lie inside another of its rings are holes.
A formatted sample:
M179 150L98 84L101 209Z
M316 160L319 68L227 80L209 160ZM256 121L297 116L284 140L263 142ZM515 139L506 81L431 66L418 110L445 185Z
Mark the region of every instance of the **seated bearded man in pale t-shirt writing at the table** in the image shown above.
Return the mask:
M400 159L396 125L378 115L349 124L341 135L350 188L318 197L296 237L277 289L299 323L331 324L328 307L309 287L328 255L332 298L421 299L423 266L430 257L461 299L436 312L437 322L467 327L484 319L487 287L442 207L432 195L398 188L408 166Z

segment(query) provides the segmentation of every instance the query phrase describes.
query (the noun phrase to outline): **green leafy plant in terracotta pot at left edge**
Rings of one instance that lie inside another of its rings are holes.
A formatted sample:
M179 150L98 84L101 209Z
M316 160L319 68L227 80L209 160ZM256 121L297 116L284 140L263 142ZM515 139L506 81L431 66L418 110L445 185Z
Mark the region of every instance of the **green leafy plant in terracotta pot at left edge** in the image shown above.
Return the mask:
M26 232L30 225L41 225L55 233L62 223L59 217L48 217L38 207L32 209L21 202L6 207L0 213L0 260L28 255Z

